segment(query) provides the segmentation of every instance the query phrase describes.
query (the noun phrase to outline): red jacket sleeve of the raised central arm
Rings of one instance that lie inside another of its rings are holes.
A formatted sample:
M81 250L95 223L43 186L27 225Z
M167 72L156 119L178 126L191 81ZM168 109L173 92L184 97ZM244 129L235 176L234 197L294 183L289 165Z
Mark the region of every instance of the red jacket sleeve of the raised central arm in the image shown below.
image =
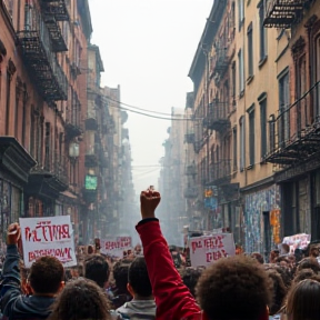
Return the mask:
M163 238L159 221L137 226L157 304L158 320L199 320L200 308L183 284Z

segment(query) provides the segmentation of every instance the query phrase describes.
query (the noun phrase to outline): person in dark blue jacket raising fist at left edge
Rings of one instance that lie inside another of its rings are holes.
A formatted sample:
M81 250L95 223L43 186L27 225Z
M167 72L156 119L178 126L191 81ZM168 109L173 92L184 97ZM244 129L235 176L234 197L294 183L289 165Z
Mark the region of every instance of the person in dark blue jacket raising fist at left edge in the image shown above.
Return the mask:
M3 264L1 283L1 309L3 319L47 319L54 297L64 286L64 270L62 263L54 257L41 257L32 263L28 286L32 292L26 296L21 290L20 256L20 226L10 224L7 236L7 256Z

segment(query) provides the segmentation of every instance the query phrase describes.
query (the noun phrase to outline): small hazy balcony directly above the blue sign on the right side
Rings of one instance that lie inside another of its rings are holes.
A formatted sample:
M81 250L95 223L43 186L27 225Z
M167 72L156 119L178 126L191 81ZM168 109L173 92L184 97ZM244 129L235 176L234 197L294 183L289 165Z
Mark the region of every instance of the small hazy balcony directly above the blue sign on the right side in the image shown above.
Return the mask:
M210 164L210 182L211 186L223 186L231 181L231 160L222 159Z

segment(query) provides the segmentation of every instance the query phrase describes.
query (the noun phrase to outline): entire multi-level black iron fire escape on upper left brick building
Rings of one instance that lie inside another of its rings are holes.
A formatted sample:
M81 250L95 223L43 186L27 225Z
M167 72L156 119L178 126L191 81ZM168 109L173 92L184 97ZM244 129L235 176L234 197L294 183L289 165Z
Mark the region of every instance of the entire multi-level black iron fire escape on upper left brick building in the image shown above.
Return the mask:
M17 33L30 77L47 102L68 99L68 80L56 56L68 50L61 20L69 20L64 1L42 0L41 10L27 2L24 30Z

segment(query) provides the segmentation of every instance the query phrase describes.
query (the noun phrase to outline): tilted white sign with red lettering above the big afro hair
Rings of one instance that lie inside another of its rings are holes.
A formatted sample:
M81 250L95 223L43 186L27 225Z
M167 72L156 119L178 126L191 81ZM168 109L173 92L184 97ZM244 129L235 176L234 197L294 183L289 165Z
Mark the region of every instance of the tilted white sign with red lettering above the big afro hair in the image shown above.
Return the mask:
M189 248L192 267L207 267L220 258L236 254L232 233L191 238Z

